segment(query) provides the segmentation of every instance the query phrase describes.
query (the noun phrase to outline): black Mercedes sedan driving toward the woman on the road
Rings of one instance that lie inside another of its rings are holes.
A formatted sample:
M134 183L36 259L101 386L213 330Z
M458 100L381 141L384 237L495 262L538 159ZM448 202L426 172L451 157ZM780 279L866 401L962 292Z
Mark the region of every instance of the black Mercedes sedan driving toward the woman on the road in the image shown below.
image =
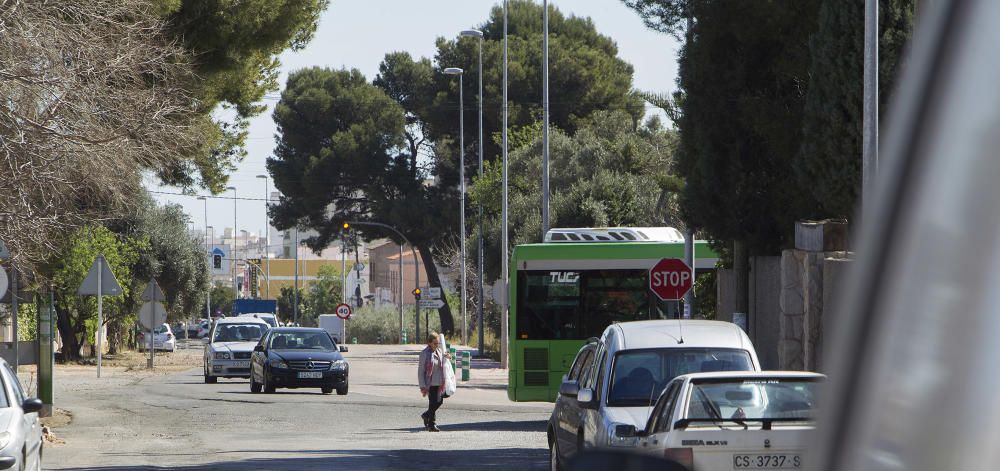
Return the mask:
M277 327L269 330L254 347L250 359L250 392L273 393L277 388L334 389L347 394L348 365L341 352L347 347L334 343L323 329Z

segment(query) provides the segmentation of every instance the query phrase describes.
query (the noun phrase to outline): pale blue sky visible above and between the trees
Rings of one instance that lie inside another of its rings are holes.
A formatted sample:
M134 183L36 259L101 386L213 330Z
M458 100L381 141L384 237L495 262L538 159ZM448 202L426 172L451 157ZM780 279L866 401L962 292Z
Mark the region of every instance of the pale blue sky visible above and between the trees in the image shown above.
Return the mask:
M668 35L646 28L639 16L620 0L553 0L549 3L565 14L590 17L601 34L614 39L619 56L635 67L636 88L658 92L676 88L680 44ZM371 79L382 57L392 51L408 51L415 57L433 58L435 39L455 37L459 31L485 22L496 4L495 0L332 0L312 42L301 51L282 54L279 83L284 86L291 71L317 65L356 68ZM279 94L274 92L271 96ZM276 99L267 100L268 111L250 124L248 155L230 180L237 188L237 196L264 198L263 181L256 176L267 173L265 161L274 148L276 130L270 107L275 102ZM155 191L178 191L153 183L148 186ZM268 186L273 189L270 182ZM231 195L231 192L226 194ZM155 196L161 202L181 204L191 215L194 227L204 227L203 202L189 196ZM263 201L238 201L236 207L240 229L253 233L264 230ZM232 227L232 200L210 200L208 220L216 233L222 227Z

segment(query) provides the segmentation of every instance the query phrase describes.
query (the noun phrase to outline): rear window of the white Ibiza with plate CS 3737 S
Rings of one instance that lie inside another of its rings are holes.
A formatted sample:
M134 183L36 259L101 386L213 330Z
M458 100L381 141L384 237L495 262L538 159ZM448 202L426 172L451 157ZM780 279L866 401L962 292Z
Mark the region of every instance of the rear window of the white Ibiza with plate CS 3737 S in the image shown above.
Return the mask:
M819 383L803 378L705 380L692 383L689 419L812 418Z

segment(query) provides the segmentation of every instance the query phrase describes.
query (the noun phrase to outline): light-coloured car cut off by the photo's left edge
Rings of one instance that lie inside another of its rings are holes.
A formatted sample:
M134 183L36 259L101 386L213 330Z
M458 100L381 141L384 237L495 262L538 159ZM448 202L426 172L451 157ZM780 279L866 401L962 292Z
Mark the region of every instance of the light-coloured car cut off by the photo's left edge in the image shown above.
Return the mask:
M0 469L42 469L42 401L24 394L17 374L0 359Z

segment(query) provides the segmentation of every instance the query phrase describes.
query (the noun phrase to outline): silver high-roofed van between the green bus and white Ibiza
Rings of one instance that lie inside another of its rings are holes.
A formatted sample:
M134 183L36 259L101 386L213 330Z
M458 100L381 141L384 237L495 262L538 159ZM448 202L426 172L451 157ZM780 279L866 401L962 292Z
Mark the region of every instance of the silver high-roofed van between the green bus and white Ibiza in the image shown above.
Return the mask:
M735 324L702 320L623 322L577 353L549 419L554 468L587 448L633 448L618 426L646 426L674 378L709 371L760 371L750 338Z

